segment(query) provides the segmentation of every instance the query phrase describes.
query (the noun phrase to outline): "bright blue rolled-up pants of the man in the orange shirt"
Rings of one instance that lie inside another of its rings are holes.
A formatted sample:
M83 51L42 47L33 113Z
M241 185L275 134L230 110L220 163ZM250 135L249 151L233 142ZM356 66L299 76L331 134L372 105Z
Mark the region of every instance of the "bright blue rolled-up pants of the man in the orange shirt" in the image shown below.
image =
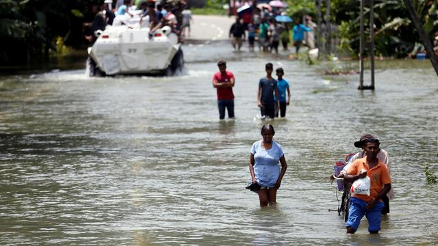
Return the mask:
M357 197L350 197L350 213L348 214L348 221L345 223L345 226L350 226L357 230L361 219L365 215L368 219L368 232L378 232L381 230L381 211L385 204L383 202L376 202L371 210L367 210L366 206L367 202Z

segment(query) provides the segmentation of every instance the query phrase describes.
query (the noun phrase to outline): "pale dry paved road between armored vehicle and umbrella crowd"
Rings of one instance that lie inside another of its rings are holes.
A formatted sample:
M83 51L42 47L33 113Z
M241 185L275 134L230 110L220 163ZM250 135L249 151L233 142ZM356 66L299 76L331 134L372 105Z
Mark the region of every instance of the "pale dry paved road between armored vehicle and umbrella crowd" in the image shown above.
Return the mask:
M194 15L192 32L188 40L228 40L229 29L234 18L228 16Z

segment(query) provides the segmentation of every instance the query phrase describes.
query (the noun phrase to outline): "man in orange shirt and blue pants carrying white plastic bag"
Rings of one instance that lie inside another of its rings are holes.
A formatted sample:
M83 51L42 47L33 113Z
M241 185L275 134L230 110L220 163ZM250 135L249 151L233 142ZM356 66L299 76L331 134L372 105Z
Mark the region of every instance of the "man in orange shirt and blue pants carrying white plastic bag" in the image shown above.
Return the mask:
M368 232L376 234L381 230L381 210L384 207L381 198L391 189L391 176L386 165L377 158L379 146L378 139L365 140L363 150L366 156L352 163L344 176L346 182L370 177L370 195L353 194L350 197L350 213L346 222L348 234L356 232L364 215L368 219ZM365 172L361 172L363 169Z

